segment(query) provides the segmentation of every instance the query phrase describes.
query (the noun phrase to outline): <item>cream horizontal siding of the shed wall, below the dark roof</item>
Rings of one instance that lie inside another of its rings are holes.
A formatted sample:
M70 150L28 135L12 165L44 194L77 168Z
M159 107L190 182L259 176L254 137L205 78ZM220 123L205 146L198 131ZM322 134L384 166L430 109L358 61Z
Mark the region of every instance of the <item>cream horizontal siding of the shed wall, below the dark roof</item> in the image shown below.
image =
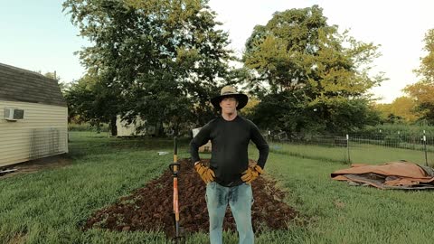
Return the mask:
M5 120L5 108L24 109L24 119ZM68 153L68 108L0 99L0 166Z

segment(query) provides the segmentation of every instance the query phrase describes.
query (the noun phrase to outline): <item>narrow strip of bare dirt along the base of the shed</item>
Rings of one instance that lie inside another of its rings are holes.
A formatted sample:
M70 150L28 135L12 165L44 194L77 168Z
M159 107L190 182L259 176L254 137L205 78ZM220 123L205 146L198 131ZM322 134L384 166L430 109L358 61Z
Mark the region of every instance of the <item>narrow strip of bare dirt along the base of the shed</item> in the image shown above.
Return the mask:
M38 172L42 169L61 168L69 164L71 164L71 159L66 157L65 155L53 155L49 157L27 161L20 164L13 164L4 167L4 169L16 170L16 171L4 175L0 174L0 180L8 177L13 177L18 174L29 174L29 173Z

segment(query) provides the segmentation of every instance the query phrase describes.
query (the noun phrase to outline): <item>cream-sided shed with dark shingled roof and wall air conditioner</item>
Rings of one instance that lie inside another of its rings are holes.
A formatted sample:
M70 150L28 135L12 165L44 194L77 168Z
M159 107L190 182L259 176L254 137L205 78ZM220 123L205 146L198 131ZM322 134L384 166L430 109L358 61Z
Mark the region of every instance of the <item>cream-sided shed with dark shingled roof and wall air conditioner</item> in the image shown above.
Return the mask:
M68 107L57 80L0 63L0 167L68 153Z

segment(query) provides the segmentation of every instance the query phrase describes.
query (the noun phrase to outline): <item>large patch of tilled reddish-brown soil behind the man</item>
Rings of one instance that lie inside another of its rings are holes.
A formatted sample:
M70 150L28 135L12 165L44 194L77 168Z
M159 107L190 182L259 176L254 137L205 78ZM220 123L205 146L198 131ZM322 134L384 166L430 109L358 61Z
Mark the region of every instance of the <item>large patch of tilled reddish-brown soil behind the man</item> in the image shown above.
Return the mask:
M208 163L209 160L203 160ZM204 198L205 184L193 169L189 160L180 160L178 178L180 225L184 232L208 232L208 211ZM275 183L259 177L252 183L254 203L252 206L253 230L286 230L288 221L297 217L287 204L282 202L284 192L274 187ZM146 184L118 203L97 211L90 217L84 230L101 228L117 231L164 230L174 236L173 176L169 170L158 179ZM228 207L224 230L236 231L236 225Z

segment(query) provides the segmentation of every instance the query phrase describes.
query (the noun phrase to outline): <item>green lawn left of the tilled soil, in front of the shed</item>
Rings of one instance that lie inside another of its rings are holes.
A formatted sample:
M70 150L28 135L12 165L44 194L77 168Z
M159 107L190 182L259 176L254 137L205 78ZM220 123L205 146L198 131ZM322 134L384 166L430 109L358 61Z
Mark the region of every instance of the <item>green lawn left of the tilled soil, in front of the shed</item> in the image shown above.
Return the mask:
M0 243L164 241L162 234L80 229L92 212L158 177L173 156L157 151L172 150L172 143L70 135L71 165L0 180Z

